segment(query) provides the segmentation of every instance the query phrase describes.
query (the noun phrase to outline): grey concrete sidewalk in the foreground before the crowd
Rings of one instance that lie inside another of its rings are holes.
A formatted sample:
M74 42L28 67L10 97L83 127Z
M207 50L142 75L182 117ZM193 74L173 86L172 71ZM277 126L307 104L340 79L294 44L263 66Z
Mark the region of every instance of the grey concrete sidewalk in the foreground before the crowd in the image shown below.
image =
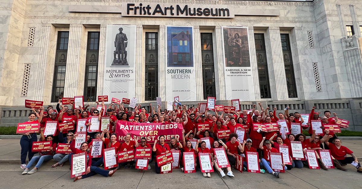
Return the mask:
M358 157L362 157L362 141L342 141L342 145L354 151ZM7 188L207 188L207 189L239 189L239 188L361 188L362 174L356 172L351 165L345 166L348 171L329 169L329 171L294 168L285 173L280 173L277 179L271 174L258 174L243 172L233 169L235 178L221 177L220 173L211 173L211 178L202 176L201 171L185 174L180 169L173 169L172 173L156 174L154 164L152 169L139 173L136 169L124 169L117 171L113 177L105 178L95 175L87 179L73 182L70 179L69 164L63 167L52 168L54 160L43 163L39 170L32 175L21 175L20 168L20 144L17 139L0 139L0 182L1 189ZM86 185L86 186L85 186Z

